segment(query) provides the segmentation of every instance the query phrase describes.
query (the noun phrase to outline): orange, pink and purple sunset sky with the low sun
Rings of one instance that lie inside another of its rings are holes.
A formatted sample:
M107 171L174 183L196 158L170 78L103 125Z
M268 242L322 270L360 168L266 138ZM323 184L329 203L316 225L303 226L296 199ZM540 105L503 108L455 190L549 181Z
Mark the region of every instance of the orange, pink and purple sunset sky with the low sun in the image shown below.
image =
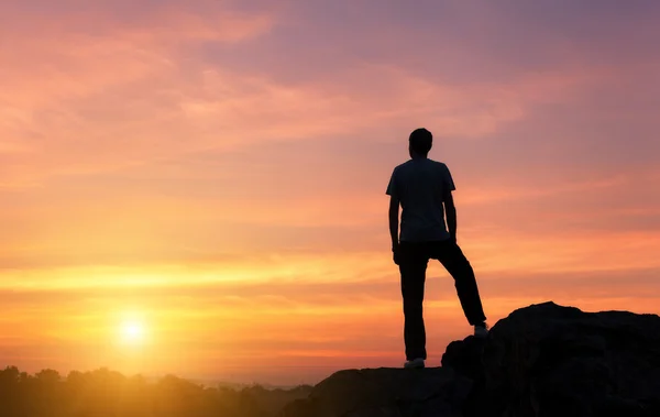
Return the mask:
M400 366L385 188L425 127L488 322L660 312L660 3L0 2L0 367ZM470 333L427 274L429 365Z

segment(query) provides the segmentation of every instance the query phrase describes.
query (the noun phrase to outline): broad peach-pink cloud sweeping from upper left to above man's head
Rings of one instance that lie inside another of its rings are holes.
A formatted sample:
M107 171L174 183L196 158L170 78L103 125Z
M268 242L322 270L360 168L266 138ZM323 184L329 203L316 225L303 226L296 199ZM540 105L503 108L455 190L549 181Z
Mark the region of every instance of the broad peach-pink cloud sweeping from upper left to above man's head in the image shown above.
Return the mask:
M455 84L410 66L345 56L340 61L351 65L331 76L287 83L270 67L232 70L205 50L220 45L223 54L241 56L229 45L276 39L272 15L163 8L124 22L107 14L70 14L66 26L42 22L41 36L9 28L12 47L3 53L12 65L3 76L12 87L0 96L4 187L187 152L400 132L420 123L449 136L482 138L524 119L530 106L556 102L598 79L593 70L556 70L507 86ZM249 51L245 62L261 54ZM285 61L289 72L306 62Z

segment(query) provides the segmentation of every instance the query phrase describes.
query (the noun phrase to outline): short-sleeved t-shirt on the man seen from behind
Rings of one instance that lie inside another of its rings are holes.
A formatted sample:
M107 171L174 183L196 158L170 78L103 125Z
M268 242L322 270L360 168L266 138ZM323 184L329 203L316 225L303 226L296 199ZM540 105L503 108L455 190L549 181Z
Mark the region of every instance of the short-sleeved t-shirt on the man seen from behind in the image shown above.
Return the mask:
M402 204L400 241L426 242L450 238L442 197L455 188L447 165L414 158L394 168L386 194Z

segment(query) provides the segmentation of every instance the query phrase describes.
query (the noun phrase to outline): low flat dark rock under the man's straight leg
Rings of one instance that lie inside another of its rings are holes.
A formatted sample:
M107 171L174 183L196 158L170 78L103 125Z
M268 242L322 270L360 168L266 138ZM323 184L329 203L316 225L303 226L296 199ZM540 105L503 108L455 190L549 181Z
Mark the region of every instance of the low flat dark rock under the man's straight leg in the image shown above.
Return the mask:
M451 370L340 371L282 417L459 417L472 382Z

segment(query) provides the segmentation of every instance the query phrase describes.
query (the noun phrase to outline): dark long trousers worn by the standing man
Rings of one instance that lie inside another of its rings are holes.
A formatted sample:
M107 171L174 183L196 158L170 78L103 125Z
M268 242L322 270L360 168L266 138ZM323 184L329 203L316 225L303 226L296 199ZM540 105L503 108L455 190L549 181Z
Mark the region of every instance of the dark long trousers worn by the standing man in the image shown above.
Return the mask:
M472 265L453 240L400 242L398 263L404 297L404 341L408 361L427 359L422 304L426 270L429 260L438 260L454 278L454 284L470 325L486 320Z

